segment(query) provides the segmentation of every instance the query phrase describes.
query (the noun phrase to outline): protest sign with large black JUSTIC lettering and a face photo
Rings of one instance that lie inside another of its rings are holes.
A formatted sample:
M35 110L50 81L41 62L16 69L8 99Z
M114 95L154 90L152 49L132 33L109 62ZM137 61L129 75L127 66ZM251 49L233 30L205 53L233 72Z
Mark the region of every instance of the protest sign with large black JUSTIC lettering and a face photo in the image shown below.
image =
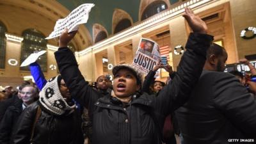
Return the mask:
M141 38L132 66L147 75L161 60L158 44L147 38Z

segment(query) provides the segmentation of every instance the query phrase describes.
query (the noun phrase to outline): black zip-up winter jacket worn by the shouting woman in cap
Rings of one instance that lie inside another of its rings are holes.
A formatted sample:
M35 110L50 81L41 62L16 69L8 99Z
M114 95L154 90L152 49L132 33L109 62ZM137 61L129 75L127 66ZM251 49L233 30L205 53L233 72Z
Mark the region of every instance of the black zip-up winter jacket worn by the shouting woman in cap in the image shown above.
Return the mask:
M84 80L74 54L67 47L54 54L72 97L93 113L92 143L159 144L159 129L163 128L165 116L188 100L202 73L211 41L212 36L191 33L172 83L158 97L143 93L134 96L130 104L122 104L111 95L99 99L99 93Z

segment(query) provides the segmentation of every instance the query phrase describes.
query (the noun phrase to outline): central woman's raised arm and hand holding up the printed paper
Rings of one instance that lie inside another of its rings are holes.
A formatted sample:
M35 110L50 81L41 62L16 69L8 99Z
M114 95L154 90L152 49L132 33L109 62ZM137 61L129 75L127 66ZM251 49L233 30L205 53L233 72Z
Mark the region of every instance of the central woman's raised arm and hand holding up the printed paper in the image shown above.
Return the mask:
M87 81L85 81L78 68L73 52L67 47L68 42L70 42L75 35L76 31L68 33L66 29L60 36L60 48L58 51L54 52L54 54L60 74L67 84L72 97L79 102L79 104L90 109L93 108L93 104L100 97L100 95L89 86Z

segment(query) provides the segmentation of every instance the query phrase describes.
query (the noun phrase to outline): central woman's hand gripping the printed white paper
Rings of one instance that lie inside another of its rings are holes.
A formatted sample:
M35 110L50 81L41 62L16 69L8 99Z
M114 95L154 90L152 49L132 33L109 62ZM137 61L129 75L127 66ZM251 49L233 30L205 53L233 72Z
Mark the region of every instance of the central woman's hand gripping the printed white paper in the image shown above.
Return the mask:
M59 47L67 47L68 42L74 38L76 35L77 31L72 31L68 33L68 29L66 28L60 35L59 39Z

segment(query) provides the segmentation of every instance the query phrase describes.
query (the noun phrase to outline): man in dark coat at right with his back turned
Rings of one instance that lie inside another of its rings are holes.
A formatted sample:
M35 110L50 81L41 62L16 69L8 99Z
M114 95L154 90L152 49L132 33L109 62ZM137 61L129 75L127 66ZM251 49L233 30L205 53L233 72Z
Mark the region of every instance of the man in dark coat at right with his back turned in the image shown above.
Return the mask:
M226 60L225 49L212 44L189 101L177 110L186 144L256 142L256 102L236 77L223 72Z

